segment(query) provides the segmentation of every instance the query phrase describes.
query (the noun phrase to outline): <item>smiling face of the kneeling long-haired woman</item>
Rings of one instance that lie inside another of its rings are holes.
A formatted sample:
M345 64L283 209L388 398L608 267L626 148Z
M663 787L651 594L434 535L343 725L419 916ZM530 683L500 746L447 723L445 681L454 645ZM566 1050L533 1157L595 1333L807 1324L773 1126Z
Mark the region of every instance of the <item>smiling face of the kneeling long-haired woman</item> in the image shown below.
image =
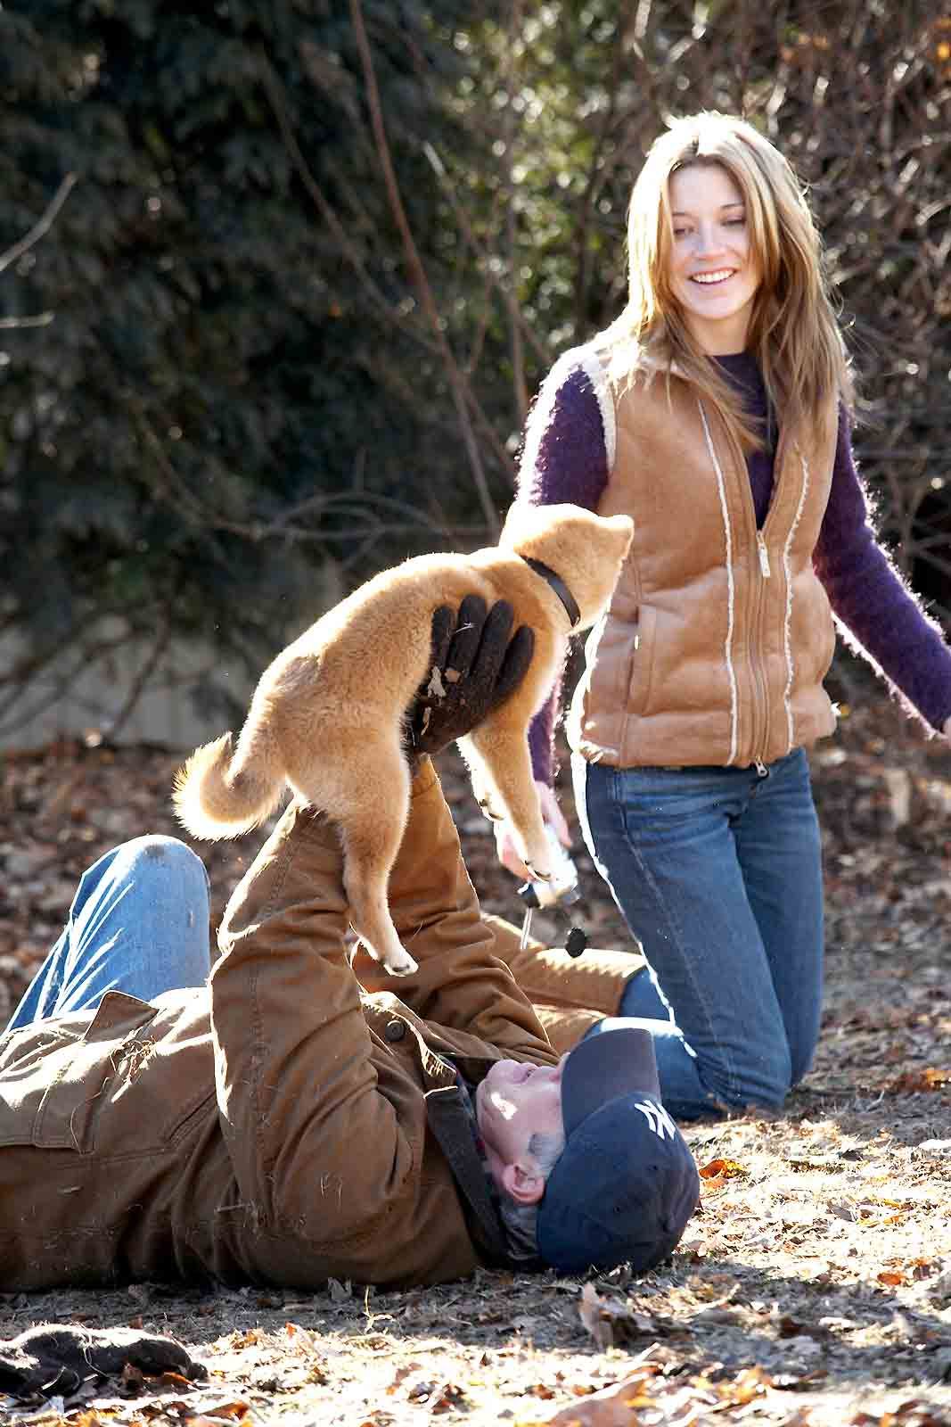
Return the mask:
M721 164L693 163L670 176L669 195L667 278L683 321L709 357L741 352L760 287L743 194Z

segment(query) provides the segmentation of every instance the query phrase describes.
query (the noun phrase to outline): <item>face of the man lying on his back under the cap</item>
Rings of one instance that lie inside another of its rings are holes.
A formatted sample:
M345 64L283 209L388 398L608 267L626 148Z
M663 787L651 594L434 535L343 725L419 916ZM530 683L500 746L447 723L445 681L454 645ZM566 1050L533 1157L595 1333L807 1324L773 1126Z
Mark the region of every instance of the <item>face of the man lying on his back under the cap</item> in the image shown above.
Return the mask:
M520 1203L545 1193L545 1176L529 1152L533 1134L563 1136L562 1070L522 1060L496 1060L476 1086L476 1119L498 1184Z

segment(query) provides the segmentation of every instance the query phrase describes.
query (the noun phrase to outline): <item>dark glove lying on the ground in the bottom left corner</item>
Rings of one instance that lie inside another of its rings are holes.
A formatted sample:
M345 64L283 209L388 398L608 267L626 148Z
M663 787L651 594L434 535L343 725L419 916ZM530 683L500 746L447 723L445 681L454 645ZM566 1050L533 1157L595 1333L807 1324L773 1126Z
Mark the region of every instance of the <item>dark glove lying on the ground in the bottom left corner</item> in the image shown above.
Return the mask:
M150 1377L165 1371L208 1376L180 1343L138 1329L81 1329L41 1324L0 1343L0 1391L33 1401L68 1397L90 1377L115 1377L128 1364Z

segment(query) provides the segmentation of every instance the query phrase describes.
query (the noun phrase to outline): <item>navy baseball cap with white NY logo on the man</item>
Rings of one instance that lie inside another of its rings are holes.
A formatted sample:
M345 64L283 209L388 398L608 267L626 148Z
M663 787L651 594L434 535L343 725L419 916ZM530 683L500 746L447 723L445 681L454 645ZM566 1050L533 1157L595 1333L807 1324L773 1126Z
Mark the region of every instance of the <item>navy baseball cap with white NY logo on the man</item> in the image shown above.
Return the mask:
M576 1046L562 1070L562 1119L565 1149L539 1203L539 1256L562 1273L652 1269L680 1241L700 1176L660 1103L650 1032L623 1026Z

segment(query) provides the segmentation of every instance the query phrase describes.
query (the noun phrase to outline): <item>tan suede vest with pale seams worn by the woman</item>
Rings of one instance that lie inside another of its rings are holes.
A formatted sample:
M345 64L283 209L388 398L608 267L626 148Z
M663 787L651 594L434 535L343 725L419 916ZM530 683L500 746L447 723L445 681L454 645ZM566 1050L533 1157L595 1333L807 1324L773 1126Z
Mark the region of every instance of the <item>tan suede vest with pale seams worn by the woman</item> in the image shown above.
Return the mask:
M823 430L780 432L757 532L743 452L694 388L605 381L599 400L610 471L599 514L632 515L634 539L587 639L570 746L619 768L749 766L831 733L823 678L836 634L813 551L836 401Z

